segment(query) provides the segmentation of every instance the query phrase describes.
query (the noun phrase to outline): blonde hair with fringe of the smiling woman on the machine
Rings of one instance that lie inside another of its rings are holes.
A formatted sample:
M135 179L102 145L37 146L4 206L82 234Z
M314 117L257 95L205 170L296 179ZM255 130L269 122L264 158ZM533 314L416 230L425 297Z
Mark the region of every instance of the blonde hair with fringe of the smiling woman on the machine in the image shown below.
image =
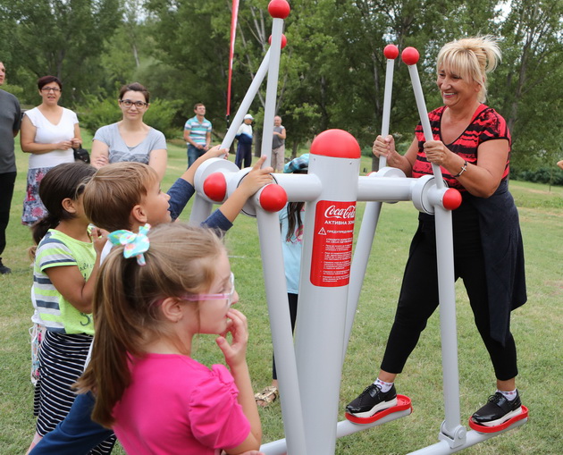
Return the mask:
M448 69L463 79L475 80L480 86L479 101L487 98L487 72L492 72L500 62L498 38L463 38L444 45L438 54L436 72Z

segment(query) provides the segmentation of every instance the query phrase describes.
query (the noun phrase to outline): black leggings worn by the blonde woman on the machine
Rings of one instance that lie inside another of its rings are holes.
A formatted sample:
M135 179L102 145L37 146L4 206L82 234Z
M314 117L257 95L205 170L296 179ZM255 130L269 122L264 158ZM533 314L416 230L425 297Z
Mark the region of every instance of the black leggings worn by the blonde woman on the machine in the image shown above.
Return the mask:
M516 344L509 331L504 345L491 337L478 218L471 209L462 210L459 214L454 212L454 215L457 215L453 217L455 278L464 282L475 325L489 351L495 375L500 381L506 381L518 373ZM382 360L381 368L388 373L402 372L428 318L439 303L433 216L420 215L419 220L403 276L399 306Z

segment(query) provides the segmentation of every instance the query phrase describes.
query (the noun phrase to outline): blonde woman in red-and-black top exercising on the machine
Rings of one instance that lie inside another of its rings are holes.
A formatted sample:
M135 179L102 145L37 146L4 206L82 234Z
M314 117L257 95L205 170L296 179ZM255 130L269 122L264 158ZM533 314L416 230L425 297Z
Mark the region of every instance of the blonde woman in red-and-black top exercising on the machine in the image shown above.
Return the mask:
M450 187L462 194L461 206L452 213L455 276L463 279L497 379L497 391L473 415L482 426L498 426L522 412L515 383L517 350L509 328L510 312L526 301L522 237L508 192L511 139L505 120L484 105L487 72L499 59L492 37L443 46L436 65L443 105L428 114L433 140L424 140L419 124L404 156L392 136L378 136L373 148L375 156L387 157L387 165L415 178L439 164ZM357 417L395 405L395 378L438 306L434 217L420 214L418 220L381 370L347 407Z

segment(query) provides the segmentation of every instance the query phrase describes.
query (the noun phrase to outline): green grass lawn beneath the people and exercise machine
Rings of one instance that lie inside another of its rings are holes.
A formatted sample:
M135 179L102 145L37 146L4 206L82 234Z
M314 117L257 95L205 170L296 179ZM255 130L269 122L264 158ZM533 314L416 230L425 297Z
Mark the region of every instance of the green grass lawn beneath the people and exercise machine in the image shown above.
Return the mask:
M87 146L91 137L86 140ZM89 148L89 147L88 147ZM167 190L186 166L184 147L171 145ZM32 268L27 255L31 246L28 228L20 223L27 156L18 149L18 179L13 196L12 218L7 231L4 264L13 273L0 275L0 453L24 453L34 433L33 389L29 381L29 333L32 314L29 290ZM231 156L231 161L233 156ZM360 169L371 161L363 157ZM517 386L530 411L525 426L478 444L467 454L561 454L563 453L563 188L512 181L525 240L528 303L512 315L520 375ZM359 229L364 203L358 203ZM181 216L188 220L189 208ZM374 240L366 280L357 309L340 390L340 417L346 403L374 380L395 311L408 245L416 226L411 203L384 205ZM239 309L249 320L248 363L256 392L271 381L272 346L265 304L264 280L257 240L256 220L239 216L227 234L231 266L237 276ZM473 323L466 293L458 290L458 350L461 423L494 392L491 362ZM327 333L327 336L331 336ZM322 342L322 341L319 341ZM214 337L201 335L194 357L207 365L220 363ZM319 382L323 378L319 377ZM337 442L339 454L403 454L438 442L443 416L441 347L438 312L430 319L418 347L397 381L398 392L413 402L411 416L384 426L353 434ZM322 396L318 397L323 400ZM261 409L264 442L283 437L279 402ZM116 453L123 453L119 448Z

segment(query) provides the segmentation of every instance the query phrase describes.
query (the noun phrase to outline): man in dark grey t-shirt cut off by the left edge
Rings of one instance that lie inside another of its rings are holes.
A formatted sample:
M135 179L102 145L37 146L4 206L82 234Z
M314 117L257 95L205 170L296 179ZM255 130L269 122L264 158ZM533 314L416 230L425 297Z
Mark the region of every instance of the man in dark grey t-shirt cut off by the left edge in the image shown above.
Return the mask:
M4 84L6 68L0 61L0 86ZM10 221L13 184L16 177L13 138L20 131L21 109L18 98L0 89L0 274L10 274L12 270L2 263L2 253L6 248L6 228Z

